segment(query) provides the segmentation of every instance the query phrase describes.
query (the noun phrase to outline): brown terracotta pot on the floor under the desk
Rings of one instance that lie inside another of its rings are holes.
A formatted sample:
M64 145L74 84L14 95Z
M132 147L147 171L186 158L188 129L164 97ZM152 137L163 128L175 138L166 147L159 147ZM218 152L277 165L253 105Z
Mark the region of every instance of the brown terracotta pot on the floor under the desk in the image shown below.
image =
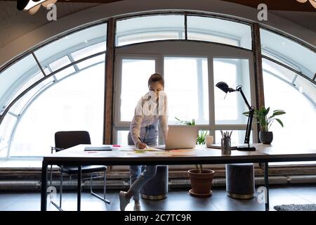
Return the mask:
M197 197L211 196L211 187L213 183L214 171L211 169L202 169L199 173L197 169L190 169L188 172L192 189L190 194Z

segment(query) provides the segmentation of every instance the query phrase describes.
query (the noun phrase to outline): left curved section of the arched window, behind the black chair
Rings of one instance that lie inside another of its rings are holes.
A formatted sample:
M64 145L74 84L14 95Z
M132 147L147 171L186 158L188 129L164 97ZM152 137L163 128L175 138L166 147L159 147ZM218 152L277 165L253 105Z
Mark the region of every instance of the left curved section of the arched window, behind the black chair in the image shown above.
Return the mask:
M106 23L86 27L1 72L1 157L43 156L60 130L102 143L106 34Z

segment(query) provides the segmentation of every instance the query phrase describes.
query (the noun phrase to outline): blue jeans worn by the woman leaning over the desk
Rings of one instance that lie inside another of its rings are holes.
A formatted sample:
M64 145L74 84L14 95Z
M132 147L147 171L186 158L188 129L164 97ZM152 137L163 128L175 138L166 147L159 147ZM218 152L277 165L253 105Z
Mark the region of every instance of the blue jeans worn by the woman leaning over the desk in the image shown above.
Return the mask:
M142 139L142 141L146 143L147 146L157 146L157 138L157 124L152 124L140 129L140 139ZM140 188L142 188L143 185L147 183L147 181L150 181L156 172L156 165L130 166L130 182L134 200L139 200Z

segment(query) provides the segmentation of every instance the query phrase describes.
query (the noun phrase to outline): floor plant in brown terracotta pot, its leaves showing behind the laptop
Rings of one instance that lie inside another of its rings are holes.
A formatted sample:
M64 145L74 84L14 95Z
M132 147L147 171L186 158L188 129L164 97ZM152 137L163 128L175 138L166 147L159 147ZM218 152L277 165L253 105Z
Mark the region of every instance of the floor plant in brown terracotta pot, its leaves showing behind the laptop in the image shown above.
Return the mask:
M186 121L179 120L177 117L175 118L180 124L195 126L195 119L192 121ZM205 144L205 137L208 133L208 131L199 131L199 134L197 135L197 144ZM211 169L203 169L202 165L195 165L195 167L196 169L190 169L187 171L192 186L192 189L189 191L190 195L197 197L211 196L214 171Z

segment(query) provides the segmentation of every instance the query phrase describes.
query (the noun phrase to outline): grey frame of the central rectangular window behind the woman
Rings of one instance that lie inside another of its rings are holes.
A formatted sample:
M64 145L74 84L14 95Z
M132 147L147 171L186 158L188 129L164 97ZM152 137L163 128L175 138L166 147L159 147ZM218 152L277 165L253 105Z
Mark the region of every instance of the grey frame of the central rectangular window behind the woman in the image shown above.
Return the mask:
M195 43L195 45L200 46L203 49L204 42L201 41L189 41L187 44ZM207 58L208 59L208 71L209 71L209 124L197 124L197 127L202 130L209 130L210 134L215 137L215 131L220 129L230 129L230 130L245 130L246 124L216 124L215 123L215 108L214 108L214 85L213 84L213 60L215 58L228 58L228 59L247 59L249 60L249 82L250 82L250 95L251 95L251 105L256 105L256 88L255 88L255 78L254 78L254 55L252 51L247 49L239 49L239 51L235 51L230 46L211 44L209 48L215 48L216 51L220 53L210 53L211 51L207 51L208 54L200 53L191 53L188 54L185 49L180 49L176 52L172 52L168 47L162 47L164 44L175 44L183 43L183 41L151 41L145 43L137 43L129 46L120 46L116 51L116 63L115 63L115 82L114 82L114 124L113 124L113 142L117 142L117 131L119 130L129 130L129 126L131 122L120 122L119 121L119 107L120 100L119 96L121 94L121 60L124 57L131 58L140 58L140 59L149 59L156 57L159 63L156 62L156 72L162 73L164 71L164 57L195 57L195 58ZM150 50L148 50L150 49ZM152 49L156 49L156 52L152 51ZM161 49L168 49L162 52ZM220 51L219 51L220 50ZM150 53L148 53L150 51ZM206 50L205 50L206 51ZM231 52L233 51L233 53ZM182 54L181 54L182 53ZM230 54L232 53L232 54ZM256 131L256 125L252 126L252 139L257 141L258 132ZM162 143L162 136L159 134L159 143Z

